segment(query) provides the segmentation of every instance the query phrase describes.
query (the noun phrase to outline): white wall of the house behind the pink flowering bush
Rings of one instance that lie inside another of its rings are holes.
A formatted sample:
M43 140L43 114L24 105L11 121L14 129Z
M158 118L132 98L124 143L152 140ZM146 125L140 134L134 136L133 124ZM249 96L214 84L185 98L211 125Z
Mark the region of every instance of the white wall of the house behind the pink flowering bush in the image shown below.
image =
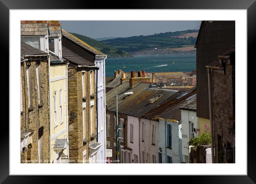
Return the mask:
M196 111L181 110L181 125L182 125L182 156L184 162L188 163L188 141L192 137L191 123L194 123L194 128L197 128ZM196 136L196 134L194 134Z

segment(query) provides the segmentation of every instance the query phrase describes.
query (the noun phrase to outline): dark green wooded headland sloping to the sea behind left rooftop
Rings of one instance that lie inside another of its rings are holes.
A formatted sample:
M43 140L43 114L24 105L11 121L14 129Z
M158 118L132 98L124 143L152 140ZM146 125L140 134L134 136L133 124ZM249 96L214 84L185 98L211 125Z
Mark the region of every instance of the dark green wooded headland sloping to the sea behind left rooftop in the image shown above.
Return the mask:
M90 46L94 47L100 52L103 52L108 55L108 57L131 57L131 55L127 52L124 52L118 48L114 48L109 46L106 43L94 40L84 35L79 35L77 33L71 33L72 35L78 37L80 40L84 41L85 43L89 44Z

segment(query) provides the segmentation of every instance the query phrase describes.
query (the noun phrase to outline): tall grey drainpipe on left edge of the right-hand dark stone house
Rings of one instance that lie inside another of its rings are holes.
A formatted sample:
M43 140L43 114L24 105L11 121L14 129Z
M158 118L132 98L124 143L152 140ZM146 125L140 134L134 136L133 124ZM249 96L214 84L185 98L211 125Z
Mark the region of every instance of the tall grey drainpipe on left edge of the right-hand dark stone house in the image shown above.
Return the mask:
M209 111L210 111L210 131L211 131L211 149L212 149L212 163L214 162L214 135L213 135L213 122L212 122L212 90L211 90L211 69L208 71L208 91L209 91Z

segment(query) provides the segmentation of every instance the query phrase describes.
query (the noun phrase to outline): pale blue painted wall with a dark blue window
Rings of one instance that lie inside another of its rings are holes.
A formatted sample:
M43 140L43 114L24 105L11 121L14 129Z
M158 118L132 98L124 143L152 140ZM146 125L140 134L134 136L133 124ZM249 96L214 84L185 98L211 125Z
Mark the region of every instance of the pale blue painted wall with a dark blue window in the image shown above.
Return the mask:
M172 147L167 148L167 124L172 126ZM158 147L162 148L162 163L167 163L167 156L172 157L172 163L183 162L181 153L181 126L176 121L159 120ZM159 152L159 150L158 150Z

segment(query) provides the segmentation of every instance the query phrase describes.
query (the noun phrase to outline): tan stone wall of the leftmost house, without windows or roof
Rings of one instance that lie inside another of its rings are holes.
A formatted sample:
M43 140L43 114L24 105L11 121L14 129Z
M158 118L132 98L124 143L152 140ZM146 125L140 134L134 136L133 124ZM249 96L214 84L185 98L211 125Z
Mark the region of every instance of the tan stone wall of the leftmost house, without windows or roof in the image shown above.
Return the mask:
M49 162L49 106L48 106L48 59L47 57L36 60L36 58L29 58L30 64L30 77L31 77L31 90L32 90L32 106L28 106L28 83L26 77L26 62L21 63L21 88L22 88L22 112L21 118L21 134L33 131L32 143L28 146L27 152L21 153L21 163L24 160L30 159L34 163L38 163L38 139L42 137L42 149L44 163ZM43 103L39 104L38 101L38 86L36 78L36 63L40 64L40 80L41 80L41 98ZM30 110L29 110L30 109ZM43 130L42 132L39 132ZM40 134L39 134L40 133ZM41 135L43 134L43 135Z

